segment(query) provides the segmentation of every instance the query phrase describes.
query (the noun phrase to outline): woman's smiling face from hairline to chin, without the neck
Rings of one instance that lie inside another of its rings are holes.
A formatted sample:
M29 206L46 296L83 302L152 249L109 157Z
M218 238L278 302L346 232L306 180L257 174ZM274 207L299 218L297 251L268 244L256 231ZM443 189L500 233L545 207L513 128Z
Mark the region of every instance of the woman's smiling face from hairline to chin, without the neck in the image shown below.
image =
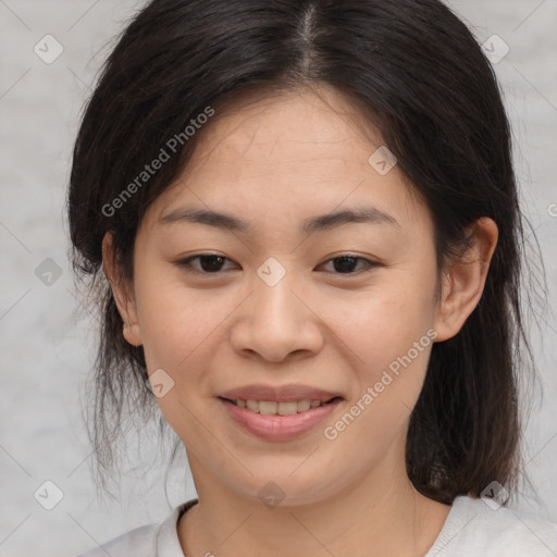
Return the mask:
M301 505L404 473L440 335L433 224L361 121L326 88L238 103L141 221L126 338L196 484Z

